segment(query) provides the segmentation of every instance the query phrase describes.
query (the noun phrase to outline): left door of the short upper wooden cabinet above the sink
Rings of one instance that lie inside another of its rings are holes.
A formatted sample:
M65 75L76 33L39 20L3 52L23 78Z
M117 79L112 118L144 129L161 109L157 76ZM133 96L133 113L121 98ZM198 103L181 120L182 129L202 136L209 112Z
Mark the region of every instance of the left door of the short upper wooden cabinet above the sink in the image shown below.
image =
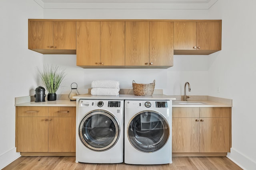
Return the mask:
M174 50L196 50L196 22L174 22Z

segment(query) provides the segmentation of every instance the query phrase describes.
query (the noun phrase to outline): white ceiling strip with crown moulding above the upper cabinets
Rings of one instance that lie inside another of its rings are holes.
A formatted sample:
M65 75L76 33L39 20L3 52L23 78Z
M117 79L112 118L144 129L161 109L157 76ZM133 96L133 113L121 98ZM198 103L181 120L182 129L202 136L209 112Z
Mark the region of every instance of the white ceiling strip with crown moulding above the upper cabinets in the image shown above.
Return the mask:
M34 0L44 9L209 9L218 0Z

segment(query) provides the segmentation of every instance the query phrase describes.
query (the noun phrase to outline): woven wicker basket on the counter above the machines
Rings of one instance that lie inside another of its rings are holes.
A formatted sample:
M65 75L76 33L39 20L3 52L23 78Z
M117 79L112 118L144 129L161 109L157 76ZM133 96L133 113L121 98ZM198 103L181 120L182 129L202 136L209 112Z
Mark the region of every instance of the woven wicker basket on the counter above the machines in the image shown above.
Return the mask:
M152 96L155 89L155 82L150 84L137 84L134 80L132 80L132 88L134 95L136 96Z

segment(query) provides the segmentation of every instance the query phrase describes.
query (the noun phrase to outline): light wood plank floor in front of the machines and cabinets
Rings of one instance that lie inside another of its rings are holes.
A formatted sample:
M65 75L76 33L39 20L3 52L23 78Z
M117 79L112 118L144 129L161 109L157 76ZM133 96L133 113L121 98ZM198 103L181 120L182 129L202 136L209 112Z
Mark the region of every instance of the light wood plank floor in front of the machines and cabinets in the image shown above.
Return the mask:
M21 156L3 170L242 170L227 157L173 157L172 164L87 164L75 156Z

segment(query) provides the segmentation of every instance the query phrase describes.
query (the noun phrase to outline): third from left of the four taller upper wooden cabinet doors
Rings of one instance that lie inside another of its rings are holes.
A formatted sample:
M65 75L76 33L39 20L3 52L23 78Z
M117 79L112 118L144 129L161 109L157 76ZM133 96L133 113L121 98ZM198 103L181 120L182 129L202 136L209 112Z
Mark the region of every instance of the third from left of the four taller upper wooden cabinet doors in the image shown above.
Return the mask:
M149 22L125 22L125 65L149 65Z

